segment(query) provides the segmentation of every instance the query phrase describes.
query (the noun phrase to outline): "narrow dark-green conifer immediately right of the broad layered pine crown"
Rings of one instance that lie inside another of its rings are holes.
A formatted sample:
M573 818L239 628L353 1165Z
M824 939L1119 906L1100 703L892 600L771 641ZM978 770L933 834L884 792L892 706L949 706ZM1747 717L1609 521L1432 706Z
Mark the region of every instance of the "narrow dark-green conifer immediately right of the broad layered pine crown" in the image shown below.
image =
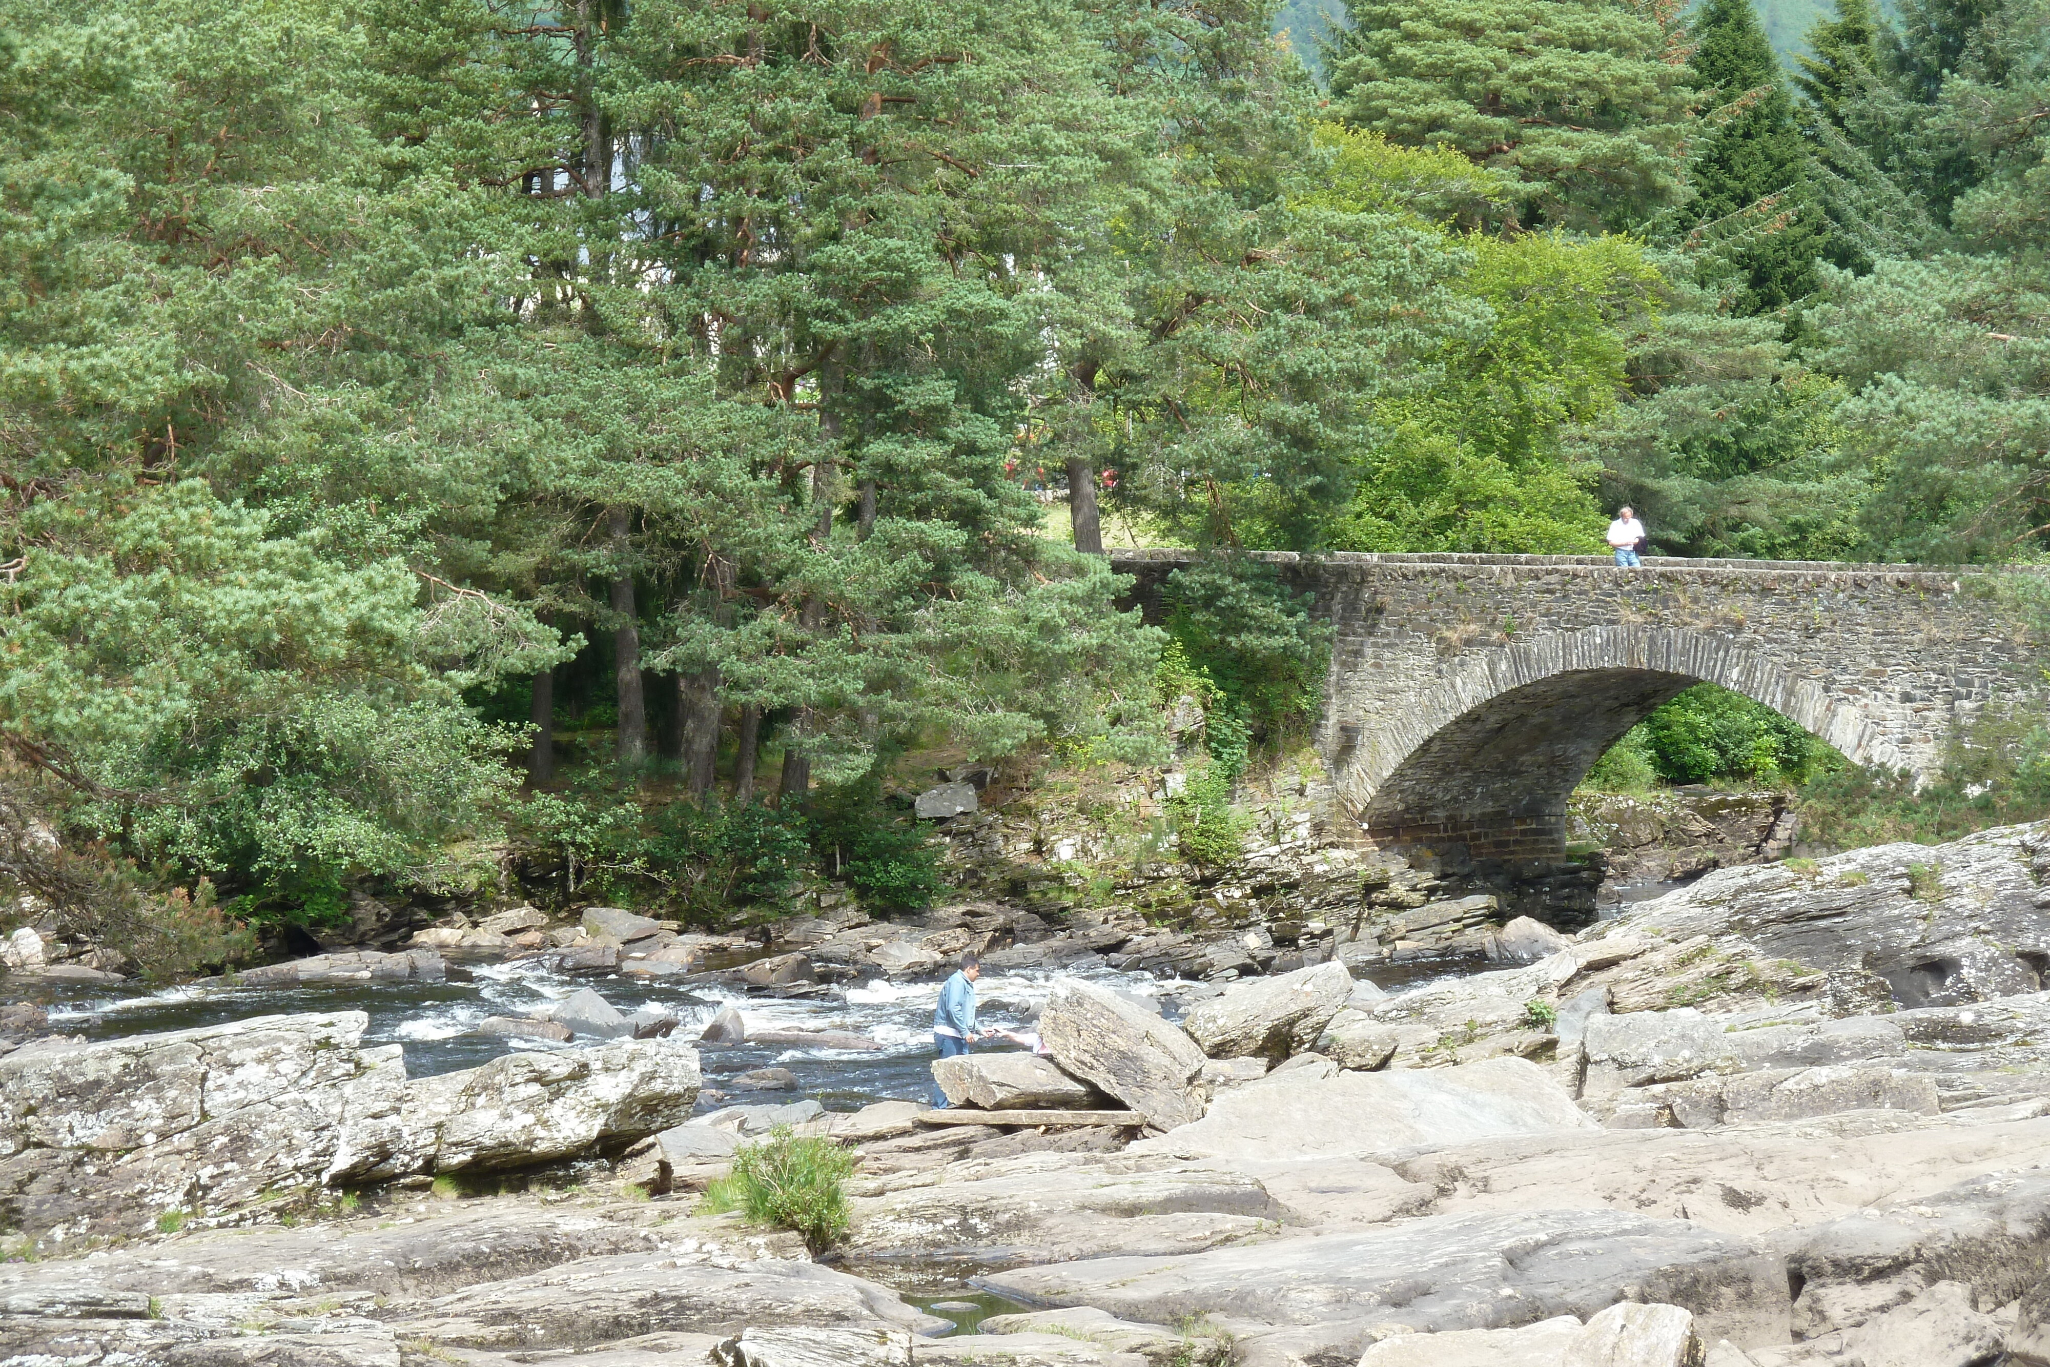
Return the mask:
M1738 281L1740 309L1767 312L1814 291L1829 230L1808 187L1794 102L1751 0L1706 0L1689 68L1718 109L1689 164L1685 219L1712 246L1710 273Z

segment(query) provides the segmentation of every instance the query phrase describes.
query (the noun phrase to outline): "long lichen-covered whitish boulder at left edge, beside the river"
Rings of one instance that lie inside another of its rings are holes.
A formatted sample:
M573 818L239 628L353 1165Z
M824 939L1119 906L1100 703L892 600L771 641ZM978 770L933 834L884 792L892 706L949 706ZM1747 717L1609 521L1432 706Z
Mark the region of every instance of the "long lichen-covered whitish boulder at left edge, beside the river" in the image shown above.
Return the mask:
M512 1168L685 1119L697 1053L670 1041L512 1053L406 1078L357 1010L256 1017L0 1058L0 1224L139 1234L168 1211L232 1217L322 1183Z

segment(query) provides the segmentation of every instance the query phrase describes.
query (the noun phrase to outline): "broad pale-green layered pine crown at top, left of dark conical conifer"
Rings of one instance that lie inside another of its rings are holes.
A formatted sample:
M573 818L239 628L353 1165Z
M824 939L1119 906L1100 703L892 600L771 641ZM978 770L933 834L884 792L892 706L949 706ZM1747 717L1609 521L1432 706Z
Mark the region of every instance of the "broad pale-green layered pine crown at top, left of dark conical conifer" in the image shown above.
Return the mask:
M1523 221L1638 227L1681 203L1693 94L1675 14L1624 0L1361 0L1332 47L1345 123L1513 170Z

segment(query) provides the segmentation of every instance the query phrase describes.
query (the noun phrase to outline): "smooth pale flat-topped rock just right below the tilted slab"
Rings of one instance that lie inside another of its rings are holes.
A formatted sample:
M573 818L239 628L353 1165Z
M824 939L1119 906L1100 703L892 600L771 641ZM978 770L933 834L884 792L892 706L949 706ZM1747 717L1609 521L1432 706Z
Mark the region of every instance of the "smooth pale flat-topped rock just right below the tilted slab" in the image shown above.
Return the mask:
M1203 1119L1140 1140L1136 1154L1312 1158L1388 1154L1490 1135L1597 1129L1542 1068L1496 1058L1458 1068L1300 1068L1220 1092Z

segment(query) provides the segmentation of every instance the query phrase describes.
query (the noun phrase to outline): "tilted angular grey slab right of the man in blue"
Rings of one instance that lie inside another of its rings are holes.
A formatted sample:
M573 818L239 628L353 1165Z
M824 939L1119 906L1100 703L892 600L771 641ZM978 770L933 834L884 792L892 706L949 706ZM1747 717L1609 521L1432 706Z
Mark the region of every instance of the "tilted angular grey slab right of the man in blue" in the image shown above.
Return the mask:
M1093 1082L1156 1129L1203 1115L1203 1051L1115 992L1062 982L1039 1017L1039 1037L1062 1072Z

